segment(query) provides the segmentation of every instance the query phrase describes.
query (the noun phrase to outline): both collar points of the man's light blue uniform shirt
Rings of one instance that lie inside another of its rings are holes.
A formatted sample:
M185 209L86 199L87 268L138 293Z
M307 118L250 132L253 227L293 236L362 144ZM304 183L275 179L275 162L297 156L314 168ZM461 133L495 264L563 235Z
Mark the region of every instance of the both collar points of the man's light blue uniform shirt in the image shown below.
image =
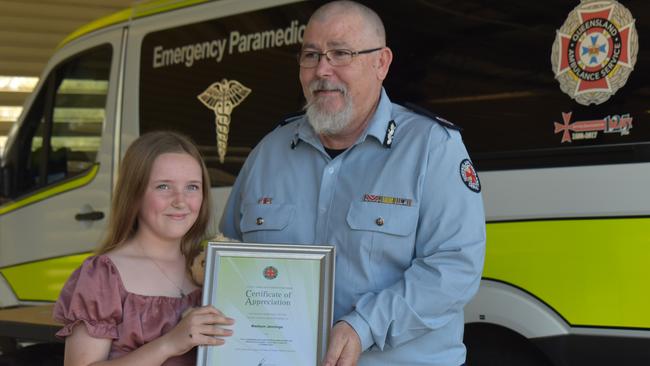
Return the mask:
M381 88L381 95L379 97L379 104L377 104L377 109L373 113L370 121L368 122L368 127L366 130L359 136L356 144L360 144L366 140L367 136L372 136L379 141L380 144L384 142L386 137L386 131L388 130L388 124L391 121L393 111L393 105L386 94L386 90ZM307 116L298 121L296 125L296 131L293 135L294 145L298 143L298 140L303 140L310 145L316 147L317 149L322 149L322 143L320 138L314 132L314 129L311 127L307 121Z

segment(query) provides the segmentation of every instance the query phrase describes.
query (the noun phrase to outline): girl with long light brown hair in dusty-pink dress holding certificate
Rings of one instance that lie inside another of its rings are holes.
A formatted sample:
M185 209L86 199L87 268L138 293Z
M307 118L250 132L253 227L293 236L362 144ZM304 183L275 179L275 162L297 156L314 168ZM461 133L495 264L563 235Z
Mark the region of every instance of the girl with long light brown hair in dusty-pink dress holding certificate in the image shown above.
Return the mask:
M65 365L194 365L197 345L221 345L233 320L195 308L190 279L210 219L210 181L198 149L173 132L128 148L108 235L65 284L54 307ZM188 352L192 350L192 352Z

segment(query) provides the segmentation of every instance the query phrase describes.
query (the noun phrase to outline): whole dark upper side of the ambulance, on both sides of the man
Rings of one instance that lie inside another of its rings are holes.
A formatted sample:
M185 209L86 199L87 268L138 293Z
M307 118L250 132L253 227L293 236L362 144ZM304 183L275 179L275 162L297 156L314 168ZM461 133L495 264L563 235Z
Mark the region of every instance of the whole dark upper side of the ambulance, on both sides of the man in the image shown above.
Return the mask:
M599 105L577 103L555 78L553 44L573 2L360 1L386 26L391 100L462 127L479 170L650 161L647 54L639 51L627 83ZM635 4L636 17L650 13L650 2ZM232 184L255 144L304 103L295 35L316 6L294 3L147 34L140 133L190 135L213 185ZM639 34L648 31L647 22L635 24ZM569 131L593 121L598 128ZM217 135L226 134L219 155Z

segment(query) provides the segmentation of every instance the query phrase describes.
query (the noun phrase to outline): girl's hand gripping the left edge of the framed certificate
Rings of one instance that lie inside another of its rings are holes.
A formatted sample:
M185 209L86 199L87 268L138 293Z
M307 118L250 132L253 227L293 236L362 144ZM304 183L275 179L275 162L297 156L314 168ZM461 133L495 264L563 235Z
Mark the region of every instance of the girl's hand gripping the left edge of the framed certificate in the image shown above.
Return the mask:
M165 334L165 343L173 356L181 355L195 346L220 346L222 337L232 335L232 330L223 328L235 321L226 317L212 306L203 306L189 311L185 317Z

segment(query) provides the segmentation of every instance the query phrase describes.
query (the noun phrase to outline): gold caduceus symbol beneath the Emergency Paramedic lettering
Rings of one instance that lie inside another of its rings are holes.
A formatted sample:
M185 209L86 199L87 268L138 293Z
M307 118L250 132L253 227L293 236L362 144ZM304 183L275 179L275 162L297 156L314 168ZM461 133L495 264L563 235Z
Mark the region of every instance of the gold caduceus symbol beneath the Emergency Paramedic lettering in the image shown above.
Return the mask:
M223 164L228 149L228 133L230 132L230 114L250 94L251 89L236 80L223 79L210 85L197 96L206 107L215 114L217 131L217 153L219 162Z

